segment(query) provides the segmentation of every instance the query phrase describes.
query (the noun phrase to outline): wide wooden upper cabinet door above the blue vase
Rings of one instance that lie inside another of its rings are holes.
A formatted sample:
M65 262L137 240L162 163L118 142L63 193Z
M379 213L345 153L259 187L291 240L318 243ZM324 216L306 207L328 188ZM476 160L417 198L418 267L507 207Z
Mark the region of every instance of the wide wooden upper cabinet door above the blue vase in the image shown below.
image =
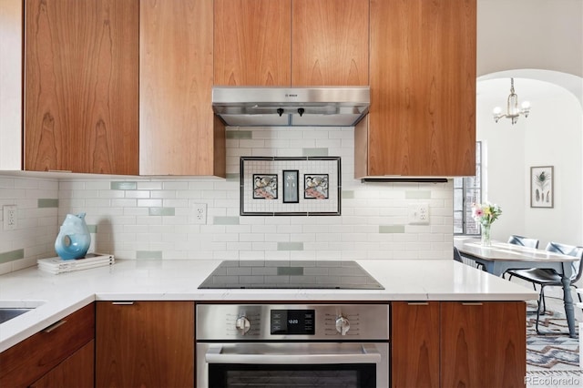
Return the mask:
M26 0L26 170L138 173L138 0Z

